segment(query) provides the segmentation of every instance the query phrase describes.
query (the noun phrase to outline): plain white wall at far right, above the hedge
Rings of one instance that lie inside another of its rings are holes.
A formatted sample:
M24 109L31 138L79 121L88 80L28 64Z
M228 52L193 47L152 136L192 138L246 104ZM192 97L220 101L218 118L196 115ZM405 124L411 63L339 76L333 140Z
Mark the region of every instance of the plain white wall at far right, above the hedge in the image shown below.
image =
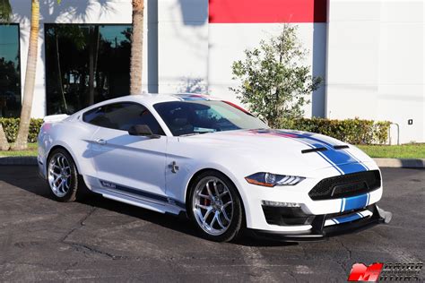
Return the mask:
M401 142L425 141L423 1L331 0L329 12L326 115L388 120Z

